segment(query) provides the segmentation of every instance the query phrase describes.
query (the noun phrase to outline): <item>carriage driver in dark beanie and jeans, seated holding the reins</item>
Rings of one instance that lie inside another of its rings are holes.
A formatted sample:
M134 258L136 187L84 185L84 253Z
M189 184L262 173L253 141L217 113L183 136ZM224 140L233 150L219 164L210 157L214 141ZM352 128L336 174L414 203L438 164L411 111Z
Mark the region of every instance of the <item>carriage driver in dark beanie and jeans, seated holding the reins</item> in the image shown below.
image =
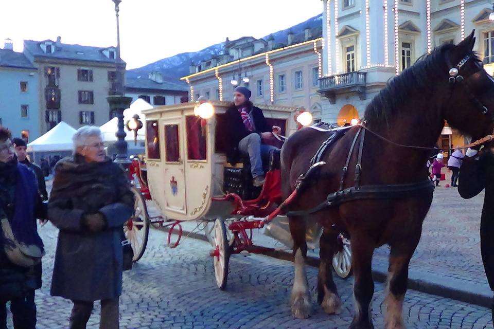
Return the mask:
M259 107L252 105L251 91L246 87L237 87L233 93L234 105L226 110L227 157L229 162L237 162L239 151L248 153L254 186L264 184L262 158L276 148L262 144L262 140L273 138L271 132L280 133L278 126L270 126Z

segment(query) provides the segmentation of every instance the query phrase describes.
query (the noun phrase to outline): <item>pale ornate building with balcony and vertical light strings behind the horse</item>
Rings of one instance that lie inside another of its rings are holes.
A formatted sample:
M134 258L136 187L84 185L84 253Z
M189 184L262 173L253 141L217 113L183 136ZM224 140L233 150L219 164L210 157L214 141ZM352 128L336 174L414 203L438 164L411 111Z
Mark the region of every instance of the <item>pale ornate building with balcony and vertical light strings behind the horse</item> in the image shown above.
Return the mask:
M494 71L492 5L480 0L323 0L322 119L361 118L386 82L443 43L475 29L474 50ZM446 127L439 144L464 143Z

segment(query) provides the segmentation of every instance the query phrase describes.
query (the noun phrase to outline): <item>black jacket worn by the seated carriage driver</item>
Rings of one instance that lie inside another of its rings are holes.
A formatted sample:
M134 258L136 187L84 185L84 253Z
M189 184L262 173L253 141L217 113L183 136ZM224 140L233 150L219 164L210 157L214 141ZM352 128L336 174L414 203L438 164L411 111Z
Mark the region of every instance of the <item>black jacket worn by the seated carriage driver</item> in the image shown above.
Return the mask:
M260 134L272 131L272 126L269 125L266 118L264 118L262 109L253 106L251 102L249 102L249 105L251 107L250 113L252 114L252 119L254 121L253 132L245 128L237 106L233 105L229 107L225 113L227 122L226 136L228 141L226 156L230 163L236 163L239 159L238 143L242 138L254 133Z

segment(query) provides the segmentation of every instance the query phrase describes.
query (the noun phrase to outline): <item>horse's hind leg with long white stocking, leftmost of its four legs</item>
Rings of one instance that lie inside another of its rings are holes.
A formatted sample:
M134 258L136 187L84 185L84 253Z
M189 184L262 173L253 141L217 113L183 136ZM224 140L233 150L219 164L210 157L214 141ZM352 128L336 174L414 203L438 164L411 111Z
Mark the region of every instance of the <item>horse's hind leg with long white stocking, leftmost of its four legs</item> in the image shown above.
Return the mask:
M290 308L292 315L298 319L310 316L311 299L307 273L305 272L305 258L307 257L307 243L305 241L305 220L303 218L289 217L290 233L293 237L293 253L295 264L295 277L293 280Z

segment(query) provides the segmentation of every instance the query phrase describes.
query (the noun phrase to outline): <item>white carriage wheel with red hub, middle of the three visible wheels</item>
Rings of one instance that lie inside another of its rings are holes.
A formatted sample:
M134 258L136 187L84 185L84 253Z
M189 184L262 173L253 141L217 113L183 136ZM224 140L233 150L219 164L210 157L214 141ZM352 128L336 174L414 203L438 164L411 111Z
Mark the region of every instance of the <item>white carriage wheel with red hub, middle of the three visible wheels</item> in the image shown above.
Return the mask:
M213 230L213 256L215 264L215 278L218 288L223 290L226 286L226 279L228 278L228 261L230 260L230 246L226 237L225 222L220 218L217 218L215 222L215 228Z

